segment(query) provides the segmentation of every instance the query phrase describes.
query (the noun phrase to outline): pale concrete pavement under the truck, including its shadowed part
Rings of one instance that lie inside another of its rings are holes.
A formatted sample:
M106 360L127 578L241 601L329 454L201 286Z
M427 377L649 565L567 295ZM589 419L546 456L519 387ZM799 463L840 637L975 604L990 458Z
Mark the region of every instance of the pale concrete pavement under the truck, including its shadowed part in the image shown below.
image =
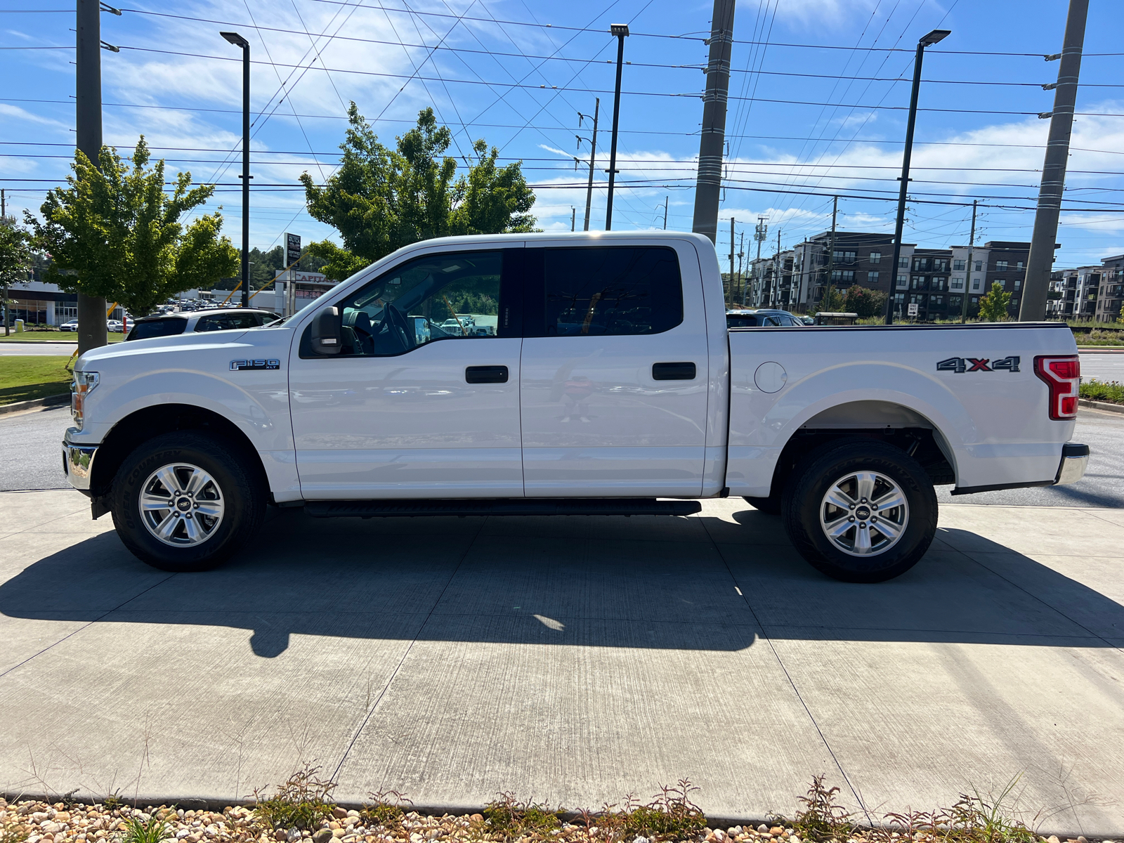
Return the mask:
M879 586L741 500L700 516L312 520L169 575L71 491L0 495L0 789L243 799L303 760L569 808L689 778L711 816L950 805L1023 773L1042 827L1124 833L1124 513L942 507Z

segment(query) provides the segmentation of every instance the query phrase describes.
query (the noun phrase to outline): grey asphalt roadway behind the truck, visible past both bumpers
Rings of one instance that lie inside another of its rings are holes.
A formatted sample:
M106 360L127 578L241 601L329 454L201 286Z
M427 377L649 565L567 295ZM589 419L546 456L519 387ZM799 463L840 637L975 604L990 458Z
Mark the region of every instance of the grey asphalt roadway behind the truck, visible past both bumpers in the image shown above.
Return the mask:
M1124 355L1121 355L1124 359ZM67 489L60 443L70 426L70 408L0 416L0 491ZM1124 508L1124 414L1081 409L1073 442L1093 450L1085 479L1071 486L1009 489L952 497L937 489L937 500L1005 506Z

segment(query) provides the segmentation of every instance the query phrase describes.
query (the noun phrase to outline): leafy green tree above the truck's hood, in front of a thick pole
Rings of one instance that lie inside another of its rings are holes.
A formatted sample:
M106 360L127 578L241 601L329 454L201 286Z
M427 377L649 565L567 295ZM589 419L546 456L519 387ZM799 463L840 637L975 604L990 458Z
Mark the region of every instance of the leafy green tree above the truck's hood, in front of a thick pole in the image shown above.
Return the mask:
M53 260L46 280L144 316L169 296L235 274L238 251L219 234L221 214L180 221L214 185L191 189L191 173L183 172L165 192L164 162L149 167L148 158L143 135L132 166L109 147L101 148L98 166L81 149L74 153L69 187L47 193L43 221L26 217Z

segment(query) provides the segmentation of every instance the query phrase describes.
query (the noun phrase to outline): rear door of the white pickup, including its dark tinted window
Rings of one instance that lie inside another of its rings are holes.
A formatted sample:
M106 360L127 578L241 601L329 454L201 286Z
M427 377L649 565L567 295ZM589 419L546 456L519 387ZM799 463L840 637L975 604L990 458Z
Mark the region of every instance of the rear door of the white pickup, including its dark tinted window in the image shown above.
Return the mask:
M527 497L698 496L708 372L694 246L562 243L525 250Z

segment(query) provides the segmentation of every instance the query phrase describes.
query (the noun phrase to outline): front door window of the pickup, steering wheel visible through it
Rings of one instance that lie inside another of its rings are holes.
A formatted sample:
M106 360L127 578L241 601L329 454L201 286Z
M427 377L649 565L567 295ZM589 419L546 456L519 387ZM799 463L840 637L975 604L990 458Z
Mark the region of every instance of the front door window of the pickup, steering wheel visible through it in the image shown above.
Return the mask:
M388 357L442 339L495 337L502 266L498 251L443 252L395 266L336 303L341 356Z

